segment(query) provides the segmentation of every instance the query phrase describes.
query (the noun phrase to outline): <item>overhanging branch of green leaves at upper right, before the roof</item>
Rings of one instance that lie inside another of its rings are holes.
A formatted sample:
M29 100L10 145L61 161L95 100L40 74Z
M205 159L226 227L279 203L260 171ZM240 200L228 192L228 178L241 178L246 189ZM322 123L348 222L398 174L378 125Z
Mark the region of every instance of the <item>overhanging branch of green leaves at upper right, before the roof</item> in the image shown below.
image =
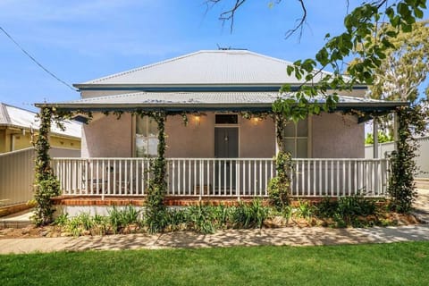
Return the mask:
M374 1L357 6L344 18L346 30L343 33L333 38L329 33L326 34L327 42L316 53L315 59L299 60L287 67L288 75L293 74L297 80L304 82L294 95L276 101L273 112L282 114L285 120L296 122L309 114L320 113L321 109L330 111L335 107L337 96L326 97L324 105L311 100L315 96L326 96L328 89L351 90L356 83L372 85L374 71L389 59L399 30L402 33L412 31L416 19L424 16L423 9L424 0L402 0L393 4ZM385 29L386 25L380 24L384 15L393 29ZM421 42L427 41L425 38ZM343 62L350 55L356 59L344 71ZM315 70L317 66L321 70ZM328 67L332 68L332 74L322 77L323 70ZM347 78L343 76L344 73L348 75ZM291 89L290 86L283 86L281 93L290 92Z

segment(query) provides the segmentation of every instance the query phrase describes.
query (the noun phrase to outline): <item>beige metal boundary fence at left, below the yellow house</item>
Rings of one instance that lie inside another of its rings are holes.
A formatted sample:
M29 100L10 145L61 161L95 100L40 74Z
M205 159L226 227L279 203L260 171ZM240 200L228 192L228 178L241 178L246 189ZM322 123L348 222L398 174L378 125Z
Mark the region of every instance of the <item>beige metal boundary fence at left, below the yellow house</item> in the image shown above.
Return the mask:
M80 150L51 148L51 156L80 156ZM26 203L33 198L34 147L0 154L0 206Z

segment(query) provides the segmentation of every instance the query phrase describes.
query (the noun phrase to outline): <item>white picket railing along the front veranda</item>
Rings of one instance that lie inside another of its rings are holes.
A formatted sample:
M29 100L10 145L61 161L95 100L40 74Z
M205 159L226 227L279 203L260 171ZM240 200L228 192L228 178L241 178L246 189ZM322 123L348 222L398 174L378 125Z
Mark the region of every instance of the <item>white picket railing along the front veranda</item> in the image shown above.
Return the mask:
M292 196L386 195L387 159L294 159ZM145 196L152 174L147 158L55 158L63 194ZM275 175L271 158L168 158L168 195L266 197Z

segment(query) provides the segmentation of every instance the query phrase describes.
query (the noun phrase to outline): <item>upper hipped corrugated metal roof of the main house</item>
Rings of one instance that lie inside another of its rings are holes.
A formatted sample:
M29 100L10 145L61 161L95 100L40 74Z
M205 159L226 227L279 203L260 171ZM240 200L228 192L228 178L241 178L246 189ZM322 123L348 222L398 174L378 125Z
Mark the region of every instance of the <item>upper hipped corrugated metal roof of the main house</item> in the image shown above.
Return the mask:
M287 75L286 68L290 64L292 63L247 50L203 50L75 86L78 88L90 85L281 86L285 83L303 82Z

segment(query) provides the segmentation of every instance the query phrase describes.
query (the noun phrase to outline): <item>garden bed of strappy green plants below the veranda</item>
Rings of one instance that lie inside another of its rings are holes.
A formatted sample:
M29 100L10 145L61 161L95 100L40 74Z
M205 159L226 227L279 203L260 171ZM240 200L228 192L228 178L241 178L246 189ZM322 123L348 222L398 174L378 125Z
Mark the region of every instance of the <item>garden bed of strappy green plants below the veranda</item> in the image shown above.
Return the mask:
M238 206L188 206L166 209L162 222L156 226L163 231L197 231L213 233L224 229L279 227L371 227L418 223L412 214L389 211L385 201L362 197L324 198L315 203L307 200L282 209L261 200ZM55 223L44 227L0 230L0 239L109 235L147 232L145 214L133 206L118 209L113 206L108 215L81 213L75 217L60 215Z

